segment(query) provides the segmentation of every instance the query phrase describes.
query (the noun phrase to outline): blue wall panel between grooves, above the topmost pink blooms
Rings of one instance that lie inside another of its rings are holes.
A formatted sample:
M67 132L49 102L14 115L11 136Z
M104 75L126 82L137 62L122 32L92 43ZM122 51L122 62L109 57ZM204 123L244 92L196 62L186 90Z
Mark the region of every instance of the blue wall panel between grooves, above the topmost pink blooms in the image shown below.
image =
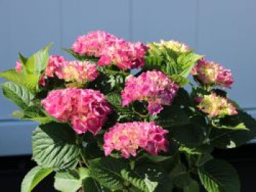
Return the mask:
M104 30L129 38L129 1L62 1L63 46L89 31Z

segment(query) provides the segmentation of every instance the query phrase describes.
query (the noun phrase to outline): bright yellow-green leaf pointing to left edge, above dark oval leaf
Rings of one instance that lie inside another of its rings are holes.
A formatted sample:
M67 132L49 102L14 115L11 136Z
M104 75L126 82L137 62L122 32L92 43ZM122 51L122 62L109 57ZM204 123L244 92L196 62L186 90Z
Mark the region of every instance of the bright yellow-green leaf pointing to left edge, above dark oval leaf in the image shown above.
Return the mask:
M31 93L34 93L38 89L39 79L35 74L19 74L15 69L10 69L0 73L0 77L15 82L18 85L22 85L27 88Z

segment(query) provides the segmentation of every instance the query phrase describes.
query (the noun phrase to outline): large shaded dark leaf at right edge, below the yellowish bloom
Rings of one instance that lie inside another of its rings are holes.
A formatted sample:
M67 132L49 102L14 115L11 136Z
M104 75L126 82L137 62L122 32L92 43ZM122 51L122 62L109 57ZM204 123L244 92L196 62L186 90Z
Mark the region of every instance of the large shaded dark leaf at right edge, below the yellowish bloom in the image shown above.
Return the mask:
M215 147L230 148L244 145L246 142L256 137L256 120L251 115L243 111L238 111L238 119L240 123L249 130L233 130L212 128L210 141ZM235 121L230 122L233 124ZM235 122L236 123L236 122ZM243 128L244 129L244 128Z

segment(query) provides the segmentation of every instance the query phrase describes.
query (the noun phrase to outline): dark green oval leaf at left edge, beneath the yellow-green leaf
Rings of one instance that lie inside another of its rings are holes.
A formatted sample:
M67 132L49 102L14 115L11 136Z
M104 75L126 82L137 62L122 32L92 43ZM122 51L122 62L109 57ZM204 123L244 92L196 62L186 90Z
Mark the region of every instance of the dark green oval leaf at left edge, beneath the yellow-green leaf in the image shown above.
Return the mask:
M23 110L33 104L34 95L26 88L15 84L15 82L4 82L2 89L4 96Z

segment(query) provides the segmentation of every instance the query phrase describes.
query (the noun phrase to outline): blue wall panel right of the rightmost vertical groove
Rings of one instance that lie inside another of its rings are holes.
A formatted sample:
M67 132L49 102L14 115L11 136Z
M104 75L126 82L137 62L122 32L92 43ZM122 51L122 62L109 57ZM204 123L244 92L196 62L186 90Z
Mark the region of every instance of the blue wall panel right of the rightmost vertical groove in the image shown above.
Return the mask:
M232 99L256 107L256 1L200 0L198 51L232 69Z

